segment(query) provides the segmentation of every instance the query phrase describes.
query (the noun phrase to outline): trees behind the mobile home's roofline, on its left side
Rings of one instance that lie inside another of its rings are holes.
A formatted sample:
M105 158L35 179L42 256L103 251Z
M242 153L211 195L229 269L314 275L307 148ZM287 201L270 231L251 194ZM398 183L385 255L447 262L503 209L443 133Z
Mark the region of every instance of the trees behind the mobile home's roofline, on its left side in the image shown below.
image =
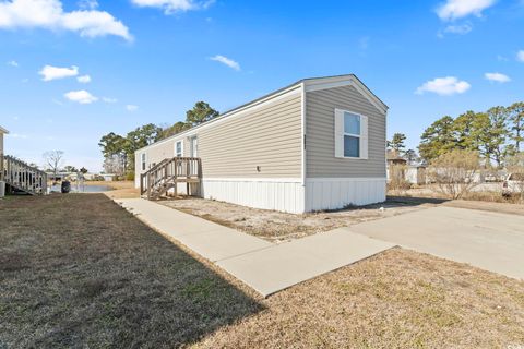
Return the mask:
M191 110L186 112L186 121L178 121L166 127L147 123L128 132L126 135L115 132L105 134L98 143L104 156L104 170L107 173L126 174L128 179L131 179L134 174L134 152L210 121L218 115L218 111L207 103L198 101Z

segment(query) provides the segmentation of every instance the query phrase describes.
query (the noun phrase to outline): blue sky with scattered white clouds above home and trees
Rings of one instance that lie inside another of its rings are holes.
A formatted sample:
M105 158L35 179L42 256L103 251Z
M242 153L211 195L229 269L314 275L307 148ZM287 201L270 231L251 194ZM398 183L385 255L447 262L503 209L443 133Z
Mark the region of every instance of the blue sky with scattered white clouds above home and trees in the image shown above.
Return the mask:
M5 152L96 171L108 132L345 73L416 147L441 116L524 99L523 20L522 0L0 0Z

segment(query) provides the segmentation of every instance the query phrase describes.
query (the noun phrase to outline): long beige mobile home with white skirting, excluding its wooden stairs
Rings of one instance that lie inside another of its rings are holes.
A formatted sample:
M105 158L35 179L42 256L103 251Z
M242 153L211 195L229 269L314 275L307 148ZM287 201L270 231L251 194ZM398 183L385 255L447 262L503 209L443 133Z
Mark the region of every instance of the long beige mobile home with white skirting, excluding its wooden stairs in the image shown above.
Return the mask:
M384 105L357 76L306 79L135 153L199 157L205 198L289 213L385 200Z

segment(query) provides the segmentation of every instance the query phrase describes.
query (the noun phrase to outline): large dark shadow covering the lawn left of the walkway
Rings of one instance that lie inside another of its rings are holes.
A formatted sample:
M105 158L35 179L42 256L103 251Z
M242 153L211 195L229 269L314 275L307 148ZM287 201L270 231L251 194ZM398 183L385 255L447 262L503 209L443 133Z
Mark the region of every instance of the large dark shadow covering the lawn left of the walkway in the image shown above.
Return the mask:
M0 348L164 348L263 309L105 195L0 202Z

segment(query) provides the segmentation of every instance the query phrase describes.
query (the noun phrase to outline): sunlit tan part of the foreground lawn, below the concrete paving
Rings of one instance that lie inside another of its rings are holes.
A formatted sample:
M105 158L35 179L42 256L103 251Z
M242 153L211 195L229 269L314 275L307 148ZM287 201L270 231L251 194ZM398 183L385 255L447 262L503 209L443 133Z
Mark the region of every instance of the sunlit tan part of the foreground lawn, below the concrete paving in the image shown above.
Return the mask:
M524 345L524 282L401 249L279 292L201 348Z

